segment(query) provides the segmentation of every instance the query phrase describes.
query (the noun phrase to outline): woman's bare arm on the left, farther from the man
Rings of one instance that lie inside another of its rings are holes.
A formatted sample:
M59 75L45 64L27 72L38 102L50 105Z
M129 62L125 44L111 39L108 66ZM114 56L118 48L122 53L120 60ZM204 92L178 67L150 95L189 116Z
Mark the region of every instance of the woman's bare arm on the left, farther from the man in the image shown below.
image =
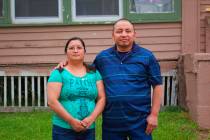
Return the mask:
M60 96L62 84L57 82L50 82L47 84L47 94L48 94L48 105L58 116L63 118L68 122L75 131L79 132L85 128L81 125L81 122L74 119L60 104L58 98Z

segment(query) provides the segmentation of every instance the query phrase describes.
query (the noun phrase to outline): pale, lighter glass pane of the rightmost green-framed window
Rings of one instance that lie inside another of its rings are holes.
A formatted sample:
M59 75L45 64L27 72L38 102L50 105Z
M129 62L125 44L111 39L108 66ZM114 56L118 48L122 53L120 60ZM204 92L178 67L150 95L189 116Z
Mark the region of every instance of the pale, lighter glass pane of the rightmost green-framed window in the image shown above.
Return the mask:
M172 13L174 0L130 0L130 13Z

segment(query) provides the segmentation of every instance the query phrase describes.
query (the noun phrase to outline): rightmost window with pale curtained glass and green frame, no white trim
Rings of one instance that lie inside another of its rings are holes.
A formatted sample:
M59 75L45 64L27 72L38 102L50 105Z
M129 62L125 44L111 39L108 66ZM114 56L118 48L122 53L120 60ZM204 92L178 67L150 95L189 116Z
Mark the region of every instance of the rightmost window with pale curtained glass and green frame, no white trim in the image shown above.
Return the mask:
M181 20L181 0L129 0L127 17L136 22Z

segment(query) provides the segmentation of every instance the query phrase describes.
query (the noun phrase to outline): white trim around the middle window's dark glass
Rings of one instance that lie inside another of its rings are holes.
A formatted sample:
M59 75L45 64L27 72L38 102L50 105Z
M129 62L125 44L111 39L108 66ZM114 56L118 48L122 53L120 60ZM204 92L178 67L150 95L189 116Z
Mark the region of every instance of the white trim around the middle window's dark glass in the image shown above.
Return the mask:
M123 16L123 1L118 0L119 2L119 15L100 15L100 16L76 16L76 0L72 0L72 21L79 21L79 22L97 22L97 21L115 21Z

